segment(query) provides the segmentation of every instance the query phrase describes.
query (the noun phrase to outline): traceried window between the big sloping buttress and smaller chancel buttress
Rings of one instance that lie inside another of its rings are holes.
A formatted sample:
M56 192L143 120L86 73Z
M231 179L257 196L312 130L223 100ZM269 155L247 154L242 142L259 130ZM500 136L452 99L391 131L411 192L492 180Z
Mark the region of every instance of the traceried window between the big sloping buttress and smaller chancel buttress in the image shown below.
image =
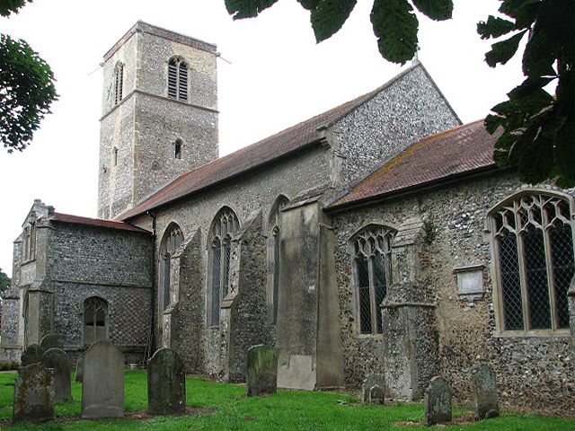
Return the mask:
M353 256L359 332L381 334L380 305L392 283L391 246L395 232L380 225L369 225L349 242Z

